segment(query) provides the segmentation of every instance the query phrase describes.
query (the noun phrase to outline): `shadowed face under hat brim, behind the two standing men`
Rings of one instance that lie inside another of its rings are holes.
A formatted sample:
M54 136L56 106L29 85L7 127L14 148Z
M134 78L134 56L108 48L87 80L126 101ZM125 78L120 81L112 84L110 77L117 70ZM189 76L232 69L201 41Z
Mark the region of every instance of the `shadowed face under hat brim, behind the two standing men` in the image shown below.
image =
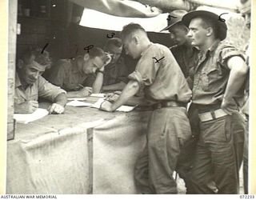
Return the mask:
M176 24L169 29L170 38L175 45L181 46L187 41L187 30L183 25Z

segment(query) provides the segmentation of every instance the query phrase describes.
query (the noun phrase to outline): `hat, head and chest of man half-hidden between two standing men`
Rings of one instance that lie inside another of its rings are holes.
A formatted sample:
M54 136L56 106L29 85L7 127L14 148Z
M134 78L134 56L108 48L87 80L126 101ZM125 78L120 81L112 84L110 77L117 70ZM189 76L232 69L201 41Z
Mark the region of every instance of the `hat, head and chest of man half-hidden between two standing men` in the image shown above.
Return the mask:
M181 67L185 78L189 76L191 68L196 65L198 60L198 49L191 45L191 40L187 36L189 30L182 23L182 17L186 13L186 10L174 10L170 12L167 18L168 26L163 29L169 30L170 32L170 38L175 45L170 47L170 50Z

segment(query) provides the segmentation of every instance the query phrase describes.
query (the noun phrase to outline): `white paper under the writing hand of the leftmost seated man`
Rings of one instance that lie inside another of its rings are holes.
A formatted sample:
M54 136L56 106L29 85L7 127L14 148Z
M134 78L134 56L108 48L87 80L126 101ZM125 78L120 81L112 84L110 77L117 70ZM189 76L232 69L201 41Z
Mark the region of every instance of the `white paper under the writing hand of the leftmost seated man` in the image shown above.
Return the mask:
M16 119L17 122L26 124L26 123L29 123L29 122L33 122L33 121L35 121L39 118L43 118L47 114L49 114L48 110L38 108L32 114L14 114L14 119Z

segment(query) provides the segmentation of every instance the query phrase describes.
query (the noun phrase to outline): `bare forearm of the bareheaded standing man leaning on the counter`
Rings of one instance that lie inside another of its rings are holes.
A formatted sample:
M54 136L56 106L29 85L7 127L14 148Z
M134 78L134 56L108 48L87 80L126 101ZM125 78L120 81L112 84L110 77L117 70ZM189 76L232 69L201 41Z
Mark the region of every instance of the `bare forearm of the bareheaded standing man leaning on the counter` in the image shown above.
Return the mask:
M125 88L122 90L122 94L120 94L117 101L115 101L112 105L112 109L116 110L118 107L125 104L131 97L134 96L139 90L138 82L136 81L130 81L125 86Z

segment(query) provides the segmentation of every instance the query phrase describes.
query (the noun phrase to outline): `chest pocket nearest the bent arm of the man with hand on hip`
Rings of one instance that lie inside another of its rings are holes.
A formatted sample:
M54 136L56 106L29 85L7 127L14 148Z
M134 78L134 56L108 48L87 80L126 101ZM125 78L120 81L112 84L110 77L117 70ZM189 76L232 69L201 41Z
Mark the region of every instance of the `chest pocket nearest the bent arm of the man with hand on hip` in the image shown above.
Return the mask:
M202 90L214 91L218 90L220 79L222 78L222 70L218 66L214 66L208 70L202 71L201 81Z

